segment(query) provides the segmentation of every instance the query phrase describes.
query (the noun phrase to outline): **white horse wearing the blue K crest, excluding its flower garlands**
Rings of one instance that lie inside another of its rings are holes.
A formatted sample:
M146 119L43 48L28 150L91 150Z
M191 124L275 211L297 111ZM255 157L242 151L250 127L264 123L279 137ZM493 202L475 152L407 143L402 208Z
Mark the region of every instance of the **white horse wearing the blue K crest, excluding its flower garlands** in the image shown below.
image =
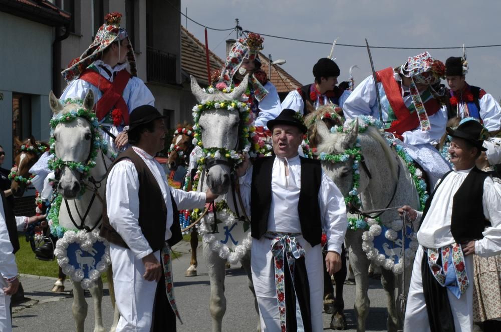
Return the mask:
M204 104L207 101L219 101L224 102L228 100L238 100L240 96L247 88L247 77L242 80L242 83L236 87L230 93L223 93L221 91L215 91L214 93L206 93L200 88L196 79L191 76L191 91L195 95L196 99ZM196 122L196 121L195 121ZM203 141L204 148L217 147L220 149L233 150L238 149L239 144L239 123L240 114L238 110L228 111L226 109L207 109L201 112L198 119L198 126L201 129L201 139ZM241 142L240 142L241 143ZM209 187L212 192L219 194L220 196L216 201L225 200L231 210L235 211L235 203L231 194L227 194L228 189L231 189L231 161L229 158L215 157L206 158L206 165L202 169L200 182L197 191L205 191ZM230 161L228 163L228 161ZM240 208L241 211L241 208ZM210 224L207 217L204 217L205 225ZM218 219L222 218L219 214ZM207 231L203 231L204 227L200 227L200 233L202 236L207 234ZM210 225L208 226L210 228ZM211 245L203 241L203 256L208 267L208 274L210 280L210 303L209 310L212 316L212 331L220 332L222 325L222 317L226 312L226 298L224 296L224 275L225 275L225 262L226 259L220 257L217 251L211 248ZM241 239L240 239L241 240ZM250 290L254 292L254 286L252 283L252 276L250 273L250 250L247 250L245 255L241 257L240 262L245 269L248 277L248 286ZM257 302L255 301L256 310ZM258 330L261 330L259 319L258 319Z

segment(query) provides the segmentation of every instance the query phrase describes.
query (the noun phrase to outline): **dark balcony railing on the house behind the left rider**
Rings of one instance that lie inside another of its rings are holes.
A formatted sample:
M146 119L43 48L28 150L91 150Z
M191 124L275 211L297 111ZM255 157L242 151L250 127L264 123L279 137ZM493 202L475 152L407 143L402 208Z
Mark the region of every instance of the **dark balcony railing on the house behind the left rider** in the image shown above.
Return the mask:
M149 82L176 84L176 54L146 49L146 77Z

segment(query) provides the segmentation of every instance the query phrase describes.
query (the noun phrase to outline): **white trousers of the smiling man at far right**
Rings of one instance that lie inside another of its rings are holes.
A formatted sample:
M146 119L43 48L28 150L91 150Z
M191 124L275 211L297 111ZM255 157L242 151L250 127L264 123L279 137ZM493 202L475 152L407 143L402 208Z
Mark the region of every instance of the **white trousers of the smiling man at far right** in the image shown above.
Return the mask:
M423 259L423 247L420 245L414 259L412 276L410 280L409 294L407 295L407 307L405 309L405 332L429 332L428 312L423 294L423 280L421 276L421 262ZM456 331L473 330L473 256L464 256L466 274L470 284L466 292L456 298L447 290L454 327Z

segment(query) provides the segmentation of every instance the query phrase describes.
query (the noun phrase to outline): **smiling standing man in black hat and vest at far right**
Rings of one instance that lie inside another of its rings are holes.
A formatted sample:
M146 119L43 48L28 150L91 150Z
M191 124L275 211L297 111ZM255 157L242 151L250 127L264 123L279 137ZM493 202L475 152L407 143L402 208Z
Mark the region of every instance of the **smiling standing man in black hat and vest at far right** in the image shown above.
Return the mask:
M445 174L424 211L403 206L409 219L418 218L416 252L407 299L404 329L471 331L473 329L472 253L501 252L501 194L489 174L476 168L487 130L476 120L456 129L449 147L454 169ZM491 227L485 228L485 220ZM429 324L428 324L428 323Z

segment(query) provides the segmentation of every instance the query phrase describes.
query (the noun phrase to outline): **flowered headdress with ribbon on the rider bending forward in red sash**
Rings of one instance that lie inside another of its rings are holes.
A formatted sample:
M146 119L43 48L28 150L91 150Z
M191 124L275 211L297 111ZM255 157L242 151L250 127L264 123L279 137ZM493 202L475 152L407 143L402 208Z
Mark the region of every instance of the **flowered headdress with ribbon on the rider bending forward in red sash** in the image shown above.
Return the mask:
M445 65L442 61L433 58L426 51L416 56L409 56L408 60L400 66L399 72L411 79L409 92L412 96L412 102L416 107L421 130L429 130L431 128L430 121L426 109L424 109L424 104L416 83L428 84L431 93L435 96L439 95L439 92L433 88L433 85L439 83L441 78L444 78Z

